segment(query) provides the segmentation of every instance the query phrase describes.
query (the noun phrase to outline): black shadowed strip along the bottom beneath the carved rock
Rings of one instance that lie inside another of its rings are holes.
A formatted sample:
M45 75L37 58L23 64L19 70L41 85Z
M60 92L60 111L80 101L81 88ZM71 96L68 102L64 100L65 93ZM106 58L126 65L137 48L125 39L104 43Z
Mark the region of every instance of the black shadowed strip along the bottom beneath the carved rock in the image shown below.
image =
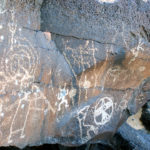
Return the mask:
M54 145L41 145L34 147L25 147L23 150L133 150L135 147L125 140L120 133L114 135L111 141L111 145L103 145L103 144L87 144L79 147L65 147L62 145L54 144ZM1 147L1 150L20 150L17 147Z

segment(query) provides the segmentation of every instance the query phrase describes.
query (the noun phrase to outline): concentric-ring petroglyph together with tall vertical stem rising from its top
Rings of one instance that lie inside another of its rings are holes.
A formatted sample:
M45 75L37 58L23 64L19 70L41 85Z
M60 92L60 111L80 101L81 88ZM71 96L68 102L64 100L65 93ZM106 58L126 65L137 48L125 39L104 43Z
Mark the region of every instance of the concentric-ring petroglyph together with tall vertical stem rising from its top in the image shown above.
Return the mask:
M0 61L0 82L5 85L0 88L1 92L4 92L4 87L6 88L8 83L20 85L21 87L28 86L34 80L38 65L38 52L29 40L25 37L16 36L18 27L13 10L11 10L11 19L12 22L8 24L11 34L9 47L3 50Z

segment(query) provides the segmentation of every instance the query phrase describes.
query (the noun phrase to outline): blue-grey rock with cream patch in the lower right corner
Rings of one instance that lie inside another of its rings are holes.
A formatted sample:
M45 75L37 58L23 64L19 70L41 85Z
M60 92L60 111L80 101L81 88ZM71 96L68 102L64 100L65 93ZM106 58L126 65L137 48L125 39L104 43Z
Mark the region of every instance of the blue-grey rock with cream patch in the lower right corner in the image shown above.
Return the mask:
M135 116L128 119L127 123L123 124L119 130L120 134L133 149L148 150L150 147L150 133L140 122L141 111Z

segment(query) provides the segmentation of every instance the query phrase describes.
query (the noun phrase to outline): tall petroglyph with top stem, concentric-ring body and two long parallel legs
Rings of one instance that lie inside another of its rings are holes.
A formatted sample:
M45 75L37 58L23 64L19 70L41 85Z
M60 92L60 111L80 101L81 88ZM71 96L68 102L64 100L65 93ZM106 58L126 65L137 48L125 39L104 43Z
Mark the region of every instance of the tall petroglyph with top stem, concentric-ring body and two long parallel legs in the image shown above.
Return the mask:
M6 84L8 84L8 82L13 82L15 85L20 85L20 92L18 93L20 100L10 126L8 143L13 142L11 140L11 137L16 132L21 131L20 137L24 137L23 132L30 110L30 102L23 127L18 130L13 130L13 125L15 124L15 119L17 117L19 109L24 108L22 102L28 101L29 99L29 95L31 94L31 92L23 92L23 90L34 80L34 73L38 64L38 53L34 50L30 42L26 38L17 37L15 35L17 31L17 22L15 20L14 9L11 10L11 19L12 22L8 24L9 31L11 33L10 49L4 50L1 65L3 71L2 73L7 79ZM5 87L7 87L7 85L5 85Z

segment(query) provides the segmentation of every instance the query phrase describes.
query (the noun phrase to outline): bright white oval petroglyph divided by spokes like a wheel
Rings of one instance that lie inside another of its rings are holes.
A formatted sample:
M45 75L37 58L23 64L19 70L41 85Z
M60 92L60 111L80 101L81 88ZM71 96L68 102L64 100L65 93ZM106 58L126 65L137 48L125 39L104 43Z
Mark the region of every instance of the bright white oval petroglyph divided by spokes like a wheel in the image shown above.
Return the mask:
M104 125L113 114L113 101L110 97L98 99L94 108L94 122L96 125Z

